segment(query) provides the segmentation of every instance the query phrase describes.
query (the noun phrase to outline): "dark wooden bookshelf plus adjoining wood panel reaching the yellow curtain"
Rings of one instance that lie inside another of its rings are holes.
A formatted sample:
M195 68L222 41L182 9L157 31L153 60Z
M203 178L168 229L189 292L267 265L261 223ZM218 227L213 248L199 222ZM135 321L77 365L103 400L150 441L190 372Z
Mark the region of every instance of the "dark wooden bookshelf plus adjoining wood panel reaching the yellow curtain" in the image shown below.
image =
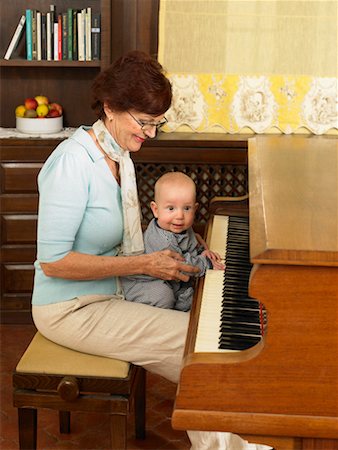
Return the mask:
M90 86L100 70L123 53L139 49L157 53L160 0L11 0L0 2L0 126L15 127L15 107L26 97L44 94L64 108L64 126L91 124ZM9 60L3 57L27 8L47 12L91 7L101 14L99 61L27 61L23 35Z

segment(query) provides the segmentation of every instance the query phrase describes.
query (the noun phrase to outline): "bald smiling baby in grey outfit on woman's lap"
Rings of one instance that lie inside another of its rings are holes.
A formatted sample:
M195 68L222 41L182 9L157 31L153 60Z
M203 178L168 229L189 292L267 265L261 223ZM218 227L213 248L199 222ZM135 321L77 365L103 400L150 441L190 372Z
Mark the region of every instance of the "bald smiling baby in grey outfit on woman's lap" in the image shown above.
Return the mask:
M199 267L198 277L207 269L224 269L221 257L208 249L192 229L196 203L196 185L182 172L168 172L155 184L155 199L150 204L154 219L144 233L145 253L170 249L182 255L187 264ZM121 278L127 300L160 308L189 311L194 280L164 281L144 275Z

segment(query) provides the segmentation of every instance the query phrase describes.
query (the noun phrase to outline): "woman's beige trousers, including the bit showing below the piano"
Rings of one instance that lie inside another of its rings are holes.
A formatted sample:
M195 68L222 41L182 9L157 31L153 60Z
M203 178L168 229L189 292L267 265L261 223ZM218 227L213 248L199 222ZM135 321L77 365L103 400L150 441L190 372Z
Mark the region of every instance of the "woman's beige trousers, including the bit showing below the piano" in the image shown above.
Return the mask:
M33 306L38 330L57 344L143 366L178 382L189 313L128 302L119 296L83 296ZM193 450L263 450L231 433L188 431Z

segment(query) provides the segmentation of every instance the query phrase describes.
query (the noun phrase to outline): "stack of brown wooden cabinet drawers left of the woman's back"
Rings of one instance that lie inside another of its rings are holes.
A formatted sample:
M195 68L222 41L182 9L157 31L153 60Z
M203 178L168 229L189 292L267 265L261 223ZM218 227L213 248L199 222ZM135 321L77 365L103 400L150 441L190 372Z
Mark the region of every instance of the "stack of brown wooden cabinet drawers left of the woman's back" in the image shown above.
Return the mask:
M1 178L1 320L30 320L38 193L36 177L57 140L3 139Z

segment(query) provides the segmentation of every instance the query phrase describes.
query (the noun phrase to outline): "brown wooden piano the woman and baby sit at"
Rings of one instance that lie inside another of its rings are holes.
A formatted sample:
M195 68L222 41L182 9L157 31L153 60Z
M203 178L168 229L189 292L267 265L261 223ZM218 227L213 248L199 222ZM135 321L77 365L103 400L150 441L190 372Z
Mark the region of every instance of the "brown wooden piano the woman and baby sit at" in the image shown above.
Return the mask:
M238 307L224 294L231 261L199 280L174 428L230 431L276 450L338 449L337 179L333 137L249 140L248 199L215 201L207 231L227 261L231 218L248 218L247 290Z

